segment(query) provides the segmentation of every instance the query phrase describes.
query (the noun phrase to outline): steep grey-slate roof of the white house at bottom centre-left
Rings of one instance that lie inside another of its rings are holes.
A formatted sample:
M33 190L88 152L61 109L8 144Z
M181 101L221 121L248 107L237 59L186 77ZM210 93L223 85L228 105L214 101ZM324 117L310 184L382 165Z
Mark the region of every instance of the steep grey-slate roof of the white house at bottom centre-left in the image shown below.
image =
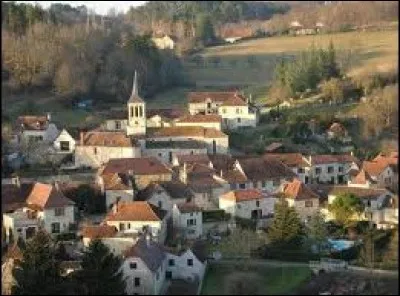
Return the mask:
M158 243L150 241L147 244L145 238L140 238L135 245L124 252L124 256L140 258L152 272L156 272L166 254L164 248Z

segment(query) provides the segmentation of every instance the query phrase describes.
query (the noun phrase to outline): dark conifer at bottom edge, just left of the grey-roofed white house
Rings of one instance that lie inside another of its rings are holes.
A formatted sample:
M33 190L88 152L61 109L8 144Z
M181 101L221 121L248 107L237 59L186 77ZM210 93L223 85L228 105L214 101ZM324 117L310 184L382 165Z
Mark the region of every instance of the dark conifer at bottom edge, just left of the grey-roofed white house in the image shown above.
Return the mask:
M91 241L82 258L82 270L75 275L88 295L124 295L122 259L114 256L100 240Z

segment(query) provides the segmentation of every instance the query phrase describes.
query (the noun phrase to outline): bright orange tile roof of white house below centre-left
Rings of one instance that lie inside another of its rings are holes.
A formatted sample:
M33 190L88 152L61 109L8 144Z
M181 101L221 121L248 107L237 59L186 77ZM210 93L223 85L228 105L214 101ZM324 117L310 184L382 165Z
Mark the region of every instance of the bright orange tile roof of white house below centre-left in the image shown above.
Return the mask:
M105 221L161 221L166 212L147 201L120 202L117 212L112 210Z

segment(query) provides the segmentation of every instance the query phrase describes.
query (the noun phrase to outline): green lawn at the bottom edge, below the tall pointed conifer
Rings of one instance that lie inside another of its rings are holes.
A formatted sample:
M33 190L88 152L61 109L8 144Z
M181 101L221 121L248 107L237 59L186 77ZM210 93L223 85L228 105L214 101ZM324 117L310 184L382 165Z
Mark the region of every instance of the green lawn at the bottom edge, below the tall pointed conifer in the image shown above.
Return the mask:
M214 264L207 269L201 295L229 295L229 283L244 274L251 276L257 295L279 295L293 292L310 277L311 270L308 267Z

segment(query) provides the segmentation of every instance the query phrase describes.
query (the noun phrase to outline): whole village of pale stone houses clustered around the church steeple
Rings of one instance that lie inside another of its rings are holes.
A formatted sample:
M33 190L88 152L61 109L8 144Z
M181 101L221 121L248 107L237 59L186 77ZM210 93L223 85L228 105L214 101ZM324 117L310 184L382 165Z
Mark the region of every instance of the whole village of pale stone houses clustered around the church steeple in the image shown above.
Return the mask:
M74 267L67 272L79 268L84 249L99 239L123 256L127 294L165 294L175 281L199 293L207 262L224 258L207 251L210 239L218 244L243 221L264 231L281 199L307 225L317 212L334 220L329 205L352 194L365 206L357 219L377 229L398 225L397 151L366 161L352 153L285 153L276 144L263 155L233 155L225 132L258 123L248 98L239 92L192 92L187 110L151 110L138 79L135 72L124 114L75 138L52 123L51 114L18 118L15 147L30 145L33 155L68 155L64 170L91 172L92 181L3 178L3 245L11 261L18 256L18 240L44 229L69 242ZM326 137L346 137L343 129L332 122ZM82 185L103 196L103 214L87 215L68 198ZM6 275L3 269L3 292L9 289Z

